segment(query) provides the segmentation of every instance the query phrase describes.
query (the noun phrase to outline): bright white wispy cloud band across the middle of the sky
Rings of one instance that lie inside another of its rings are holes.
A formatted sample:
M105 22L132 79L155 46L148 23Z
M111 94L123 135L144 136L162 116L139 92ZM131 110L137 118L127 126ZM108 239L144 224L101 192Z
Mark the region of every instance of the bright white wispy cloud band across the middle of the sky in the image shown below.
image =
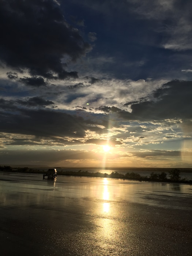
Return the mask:
M79 79L78 82L80 81L83 83L84 79ZM94 84L77 87L73 90L64 86L63 92L57 95L56 102L58 108L67 110L74 110L76 106L86 107L87 109L114 106L131 111L130 106L124 106L125 103L137 101L141 97L147 97L165 82L165 80L103 79ZM71 83L75 84L75 81ZM70 102L66 100L69 94L71 94L72 98ZM89 103L89 106L87 103ZM95 111L94 109L92 110Z

